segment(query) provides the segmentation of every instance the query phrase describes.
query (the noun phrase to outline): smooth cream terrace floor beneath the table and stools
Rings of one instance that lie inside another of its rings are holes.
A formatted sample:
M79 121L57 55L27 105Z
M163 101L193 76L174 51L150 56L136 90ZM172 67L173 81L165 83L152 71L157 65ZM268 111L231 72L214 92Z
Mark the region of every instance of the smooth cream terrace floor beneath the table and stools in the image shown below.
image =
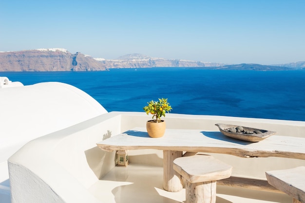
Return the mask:
M185 203L185 189L167 192L162 187L163 168L130 164L114 167L90 192L107 203ZM285 194L217 185L216 203L292 203Z

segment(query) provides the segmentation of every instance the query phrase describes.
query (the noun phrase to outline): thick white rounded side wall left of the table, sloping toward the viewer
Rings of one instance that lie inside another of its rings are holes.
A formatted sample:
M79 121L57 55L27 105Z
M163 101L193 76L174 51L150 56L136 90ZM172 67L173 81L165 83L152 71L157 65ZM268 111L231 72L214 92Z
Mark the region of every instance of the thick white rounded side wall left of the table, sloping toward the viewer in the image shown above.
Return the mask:
M115 166L115 152L96 143L120 133L107 113L30 141L8 160L12 203L99 203L88 188Z

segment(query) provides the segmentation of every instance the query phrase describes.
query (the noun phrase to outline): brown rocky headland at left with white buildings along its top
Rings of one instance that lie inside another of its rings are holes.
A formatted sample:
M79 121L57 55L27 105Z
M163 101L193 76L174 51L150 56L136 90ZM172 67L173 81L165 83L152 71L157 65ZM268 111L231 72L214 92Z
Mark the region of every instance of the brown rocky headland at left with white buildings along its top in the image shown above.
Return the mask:
M37 49L0 53L0 71L93 71L105 70L91 56L65 49Z

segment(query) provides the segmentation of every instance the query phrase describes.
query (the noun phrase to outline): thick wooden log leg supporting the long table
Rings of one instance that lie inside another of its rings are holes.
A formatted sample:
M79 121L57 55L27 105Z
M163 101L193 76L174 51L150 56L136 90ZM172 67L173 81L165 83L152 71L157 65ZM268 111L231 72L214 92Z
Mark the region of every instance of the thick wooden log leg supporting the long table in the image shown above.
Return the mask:
M181 175L172 167L173 160L178 157L182 157L182 151L163 150L163 188L169 192L183 188Z

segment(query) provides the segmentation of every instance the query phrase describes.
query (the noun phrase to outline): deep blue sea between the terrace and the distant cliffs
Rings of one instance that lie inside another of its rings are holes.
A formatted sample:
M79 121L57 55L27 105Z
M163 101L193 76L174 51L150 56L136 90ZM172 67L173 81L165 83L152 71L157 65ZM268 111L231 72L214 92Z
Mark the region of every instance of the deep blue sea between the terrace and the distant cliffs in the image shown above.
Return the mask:
M305 71L224 71L188 68L104 72L1 72L24 85L64 82L107 111L143 111L168 98L172 113L305 121ZM144 111L143 111L144 112Z

